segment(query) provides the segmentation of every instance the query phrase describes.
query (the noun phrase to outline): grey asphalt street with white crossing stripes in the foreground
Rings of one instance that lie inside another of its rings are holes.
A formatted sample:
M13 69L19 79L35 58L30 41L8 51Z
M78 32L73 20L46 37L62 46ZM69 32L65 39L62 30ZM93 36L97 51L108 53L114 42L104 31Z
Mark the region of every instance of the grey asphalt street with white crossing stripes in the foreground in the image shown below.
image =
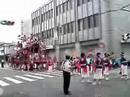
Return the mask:
M25 72L0 69L0 97L66 97L62 89L62 72ZM114 70L110 81L93 86L81 83L79 75L71 78L69 97L129 97L130 80L120 79Z

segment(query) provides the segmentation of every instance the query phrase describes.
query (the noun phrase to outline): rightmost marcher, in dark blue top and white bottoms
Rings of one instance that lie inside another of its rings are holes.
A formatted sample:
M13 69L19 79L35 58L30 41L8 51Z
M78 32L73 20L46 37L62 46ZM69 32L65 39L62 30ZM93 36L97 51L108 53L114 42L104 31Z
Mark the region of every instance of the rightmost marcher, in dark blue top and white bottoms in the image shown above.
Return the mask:
M120 65L121 65L121 78L128 79L128 62L126 58L124 57L124 53L121 53L120 58Z

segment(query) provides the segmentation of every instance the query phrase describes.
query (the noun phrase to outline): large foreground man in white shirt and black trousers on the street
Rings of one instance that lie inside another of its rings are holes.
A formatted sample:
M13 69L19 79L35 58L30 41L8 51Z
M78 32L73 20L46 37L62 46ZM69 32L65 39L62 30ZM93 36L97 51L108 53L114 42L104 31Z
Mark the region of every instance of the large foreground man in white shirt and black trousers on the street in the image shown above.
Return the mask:
M66 60L62 64L63 68L63 90L65 95L70 95L69 86L71 79L71 62L70 56L66 55Z

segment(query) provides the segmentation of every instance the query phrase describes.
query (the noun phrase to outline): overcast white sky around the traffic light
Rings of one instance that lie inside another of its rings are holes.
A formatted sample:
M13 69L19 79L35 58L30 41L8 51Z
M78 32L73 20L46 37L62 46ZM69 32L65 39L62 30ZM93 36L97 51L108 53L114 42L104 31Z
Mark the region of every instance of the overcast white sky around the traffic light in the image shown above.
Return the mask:
M21 33L21 20L31 19L31 12L48 0L0 0L0 21L13 20L14 26L0 25L0 42L17 40Z

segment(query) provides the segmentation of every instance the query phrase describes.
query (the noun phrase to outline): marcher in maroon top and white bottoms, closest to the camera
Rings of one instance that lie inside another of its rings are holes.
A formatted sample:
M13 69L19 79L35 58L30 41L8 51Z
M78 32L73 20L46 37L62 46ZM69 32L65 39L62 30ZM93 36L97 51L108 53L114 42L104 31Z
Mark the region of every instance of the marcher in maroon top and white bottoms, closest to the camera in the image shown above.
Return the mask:
M101 84L101 79L103 77L102 71L103 71L103 59L101 58L101 53L98 52L96 54L96 58L94 60L94 81L93 85L96 85L97 82L98 84Z

